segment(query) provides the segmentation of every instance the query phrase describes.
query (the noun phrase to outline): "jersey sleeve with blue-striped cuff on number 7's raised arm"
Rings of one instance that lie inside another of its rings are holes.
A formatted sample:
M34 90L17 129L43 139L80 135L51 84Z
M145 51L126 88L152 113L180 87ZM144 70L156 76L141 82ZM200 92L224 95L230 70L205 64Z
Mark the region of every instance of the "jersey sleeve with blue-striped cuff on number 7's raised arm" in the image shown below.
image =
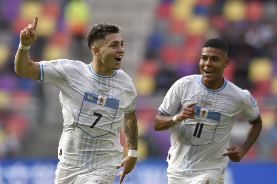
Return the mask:
M37 82L47 82L57 87L67 82L62 59L38 62L40 78Z

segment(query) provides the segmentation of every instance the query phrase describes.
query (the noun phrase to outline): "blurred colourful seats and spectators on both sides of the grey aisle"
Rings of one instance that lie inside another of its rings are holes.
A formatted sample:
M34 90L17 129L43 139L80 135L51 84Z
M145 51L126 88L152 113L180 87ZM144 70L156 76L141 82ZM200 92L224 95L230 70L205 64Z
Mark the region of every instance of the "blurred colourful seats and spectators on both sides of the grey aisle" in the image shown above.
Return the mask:
M30 49L32 60L78 60L89 53L83 49L83 37L91 26L91 14L88 1L82 0L0 0L0 158L20 155L24 139L43 122L42 85L14 73L20 31L38 15L37 41ZM251 92L263 120L261 135L246 158L277 160L276 21L274 0L156 2L152 31L145 35L145 52L140 53L144 59L133 76L142 158L166 156L170 131L154 131L157 109L177 79L200 73L203 43L221 38L229 46L231 60L224 77ZM231 144L243 141L247 126L244 119L236 117Z

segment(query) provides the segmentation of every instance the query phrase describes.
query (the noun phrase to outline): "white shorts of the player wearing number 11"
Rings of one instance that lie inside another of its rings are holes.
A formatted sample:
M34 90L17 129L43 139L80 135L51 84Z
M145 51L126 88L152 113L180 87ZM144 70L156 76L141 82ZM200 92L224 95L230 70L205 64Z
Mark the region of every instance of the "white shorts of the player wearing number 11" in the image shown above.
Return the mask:
M182 176L167 168L168 184L223 184L224 175L213 172Z

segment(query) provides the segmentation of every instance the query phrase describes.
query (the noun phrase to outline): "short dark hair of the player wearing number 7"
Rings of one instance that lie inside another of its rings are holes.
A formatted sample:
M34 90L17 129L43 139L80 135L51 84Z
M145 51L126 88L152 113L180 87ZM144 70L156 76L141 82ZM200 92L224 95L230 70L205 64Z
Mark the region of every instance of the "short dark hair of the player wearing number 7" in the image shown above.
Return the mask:
M91 45L100 39L104 39L111 33L120 33L121 27L111 23L100 23L92 26L87 33L87 45L91 50Z

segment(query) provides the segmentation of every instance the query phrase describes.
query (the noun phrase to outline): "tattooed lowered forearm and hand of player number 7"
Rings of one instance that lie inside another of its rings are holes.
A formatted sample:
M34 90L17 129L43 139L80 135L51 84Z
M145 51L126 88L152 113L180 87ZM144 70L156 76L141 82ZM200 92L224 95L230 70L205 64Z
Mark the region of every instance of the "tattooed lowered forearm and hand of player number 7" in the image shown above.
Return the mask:
M122 132L125 137L128 150L138 150L138 123L136 119L136 113L133 111L132 113L125 114L124 121L122 124ZM127 156L122 160L121 167L123 167L123 171L120 171L117 176L120 176L119 183L122 183L126 174L131 172L136 164L136 160L138 157ZM120 168L120 167L117 167Z

